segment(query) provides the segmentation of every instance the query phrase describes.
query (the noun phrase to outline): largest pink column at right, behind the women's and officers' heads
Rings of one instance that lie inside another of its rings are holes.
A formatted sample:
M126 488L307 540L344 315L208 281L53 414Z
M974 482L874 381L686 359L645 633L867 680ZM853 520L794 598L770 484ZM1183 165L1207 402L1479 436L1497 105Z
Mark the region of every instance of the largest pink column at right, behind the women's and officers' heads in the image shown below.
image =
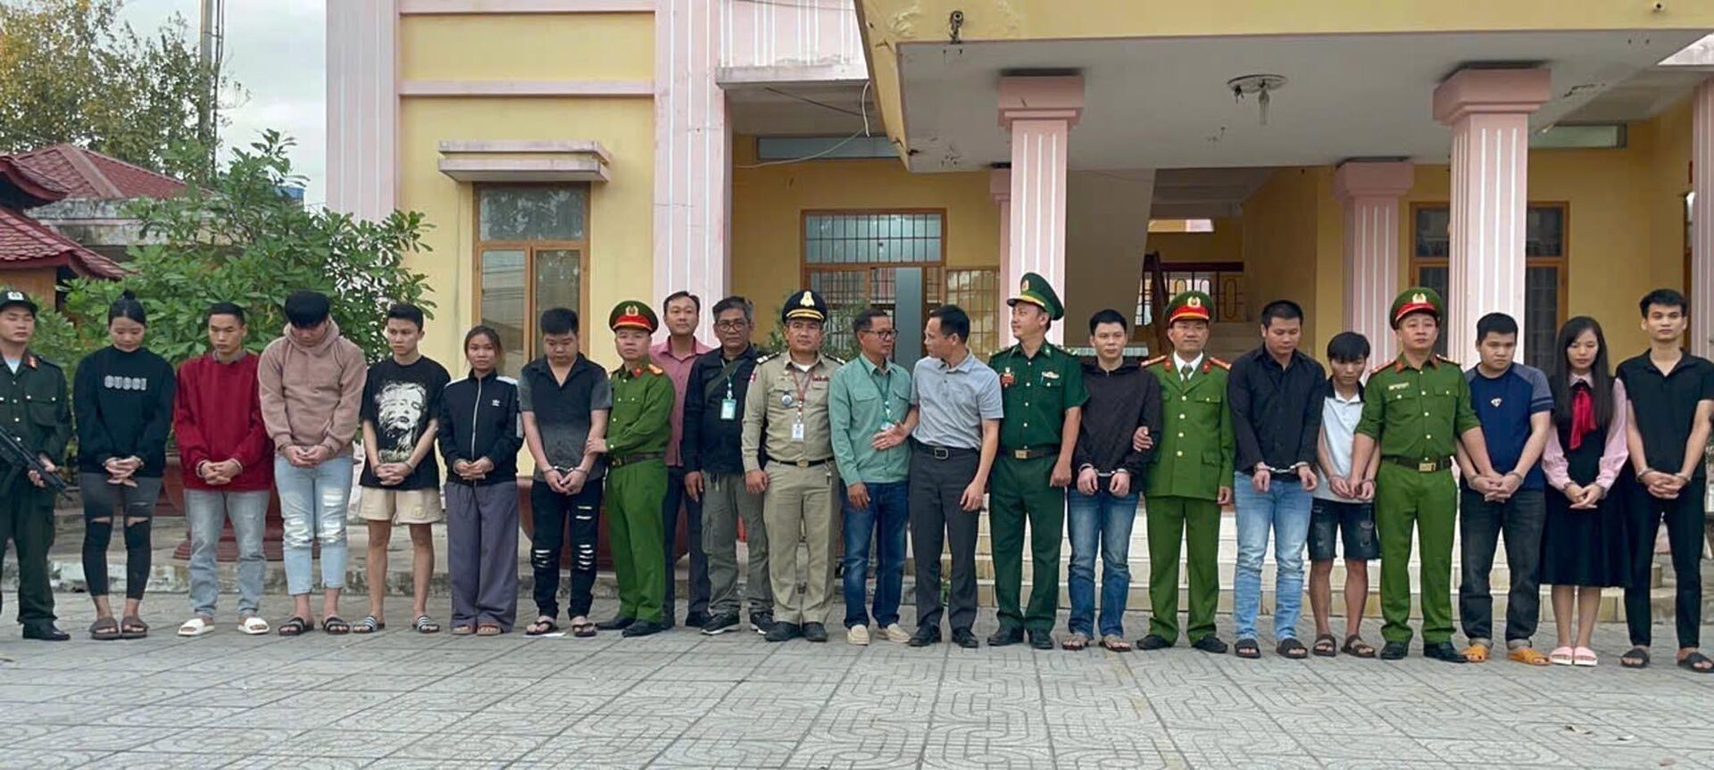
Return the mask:
M1548 84L1544 69L1467 69L1435 89L1435 120L1452 127L1452 297L1443 334L1453 358L1467 358L1484 314L1525 322L1529 113L1548 101Z

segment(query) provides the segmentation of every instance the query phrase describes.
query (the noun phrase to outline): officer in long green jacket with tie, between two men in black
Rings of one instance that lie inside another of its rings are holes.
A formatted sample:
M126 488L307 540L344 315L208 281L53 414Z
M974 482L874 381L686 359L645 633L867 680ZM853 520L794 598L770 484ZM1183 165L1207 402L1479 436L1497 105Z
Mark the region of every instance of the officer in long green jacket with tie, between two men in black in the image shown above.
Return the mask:
M1138 650L1164 650L1178 643L1179 542L1186 542L1190 571L1190 624L1184 636L1202 652L1222 653L1226 641L1214 633L1220 604L1220 506L1232 501L1232 413L1226 405L1231 369L1207 355L1208 312L1214 300L1183 292L1167 304L1167 340L1172 353L1143 362L1160 381L1160 441L1143 494L1148 499L1148 636Z

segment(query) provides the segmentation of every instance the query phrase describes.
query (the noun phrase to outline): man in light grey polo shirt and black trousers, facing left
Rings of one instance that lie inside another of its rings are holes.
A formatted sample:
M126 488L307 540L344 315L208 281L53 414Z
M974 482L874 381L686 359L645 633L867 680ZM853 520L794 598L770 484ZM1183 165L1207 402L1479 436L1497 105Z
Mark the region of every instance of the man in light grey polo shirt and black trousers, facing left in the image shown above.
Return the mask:
M929 312L922 343L927 358L912 376L910 413L898 437L910 434L910 540L917 559L917 633L910 647L941 641L941 547L953 550L948 619L953 643L977 647L975 530L987 473L999 451L1004 413L999 376L970 355L970 316L958 305Z

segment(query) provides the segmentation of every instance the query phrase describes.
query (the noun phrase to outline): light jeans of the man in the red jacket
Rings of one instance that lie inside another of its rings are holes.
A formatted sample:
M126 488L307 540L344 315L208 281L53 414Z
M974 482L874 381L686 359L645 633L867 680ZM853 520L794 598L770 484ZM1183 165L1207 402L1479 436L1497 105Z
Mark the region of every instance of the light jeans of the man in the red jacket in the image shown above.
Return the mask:
M190 526L190 612L214 617L219 602L219 535L226 520L238 540L238 617L250 617L262 605L262 530L267 520L266 489L254 492L216 492L185 489L185 523Z

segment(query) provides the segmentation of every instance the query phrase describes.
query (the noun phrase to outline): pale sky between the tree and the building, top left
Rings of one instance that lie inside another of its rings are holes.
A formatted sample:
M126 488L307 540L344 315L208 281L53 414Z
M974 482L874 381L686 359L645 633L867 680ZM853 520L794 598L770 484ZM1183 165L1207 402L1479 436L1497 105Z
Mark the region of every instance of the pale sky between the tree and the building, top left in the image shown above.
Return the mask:
M125 0L123 19L147 36L180 14L195 39L201 9L199 0ZM309 177L310 204L327 189L324 14L324 0L226 0L226 74L247 94L223 101L221 144L249 146L264 129L297 139L291 166Z

